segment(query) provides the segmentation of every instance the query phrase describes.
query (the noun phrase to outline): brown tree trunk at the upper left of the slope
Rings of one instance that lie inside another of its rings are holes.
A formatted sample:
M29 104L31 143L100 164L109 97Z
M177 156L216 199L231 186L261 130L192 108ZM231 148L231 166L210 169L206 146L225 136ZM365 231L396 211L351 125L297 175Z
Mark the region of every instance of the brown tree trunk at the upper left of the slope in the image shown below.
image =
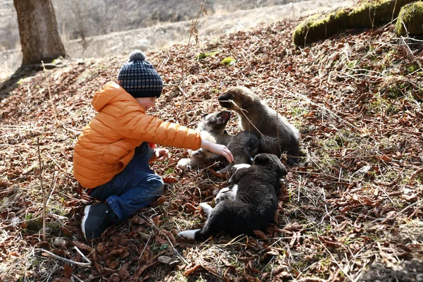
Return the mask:
M13 0L18 13L23 65L50 63L66 56L51 0Z

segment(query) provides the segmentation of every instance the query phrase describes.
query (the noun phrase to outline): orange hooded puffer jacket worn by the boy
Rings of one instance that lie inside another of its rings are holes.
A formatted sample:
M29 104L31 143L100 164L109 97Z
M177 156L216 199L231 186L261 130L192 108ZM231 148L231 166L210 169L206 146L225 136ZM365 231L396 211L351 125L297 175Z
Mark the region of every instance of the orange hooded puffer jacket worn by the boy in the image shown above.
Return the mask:
M73 154L73 176L85 188L107 183L123 171L142 142L200 148L200 133L145 114L144 107L115 82L94 94L92 106L98 113L78 137Z

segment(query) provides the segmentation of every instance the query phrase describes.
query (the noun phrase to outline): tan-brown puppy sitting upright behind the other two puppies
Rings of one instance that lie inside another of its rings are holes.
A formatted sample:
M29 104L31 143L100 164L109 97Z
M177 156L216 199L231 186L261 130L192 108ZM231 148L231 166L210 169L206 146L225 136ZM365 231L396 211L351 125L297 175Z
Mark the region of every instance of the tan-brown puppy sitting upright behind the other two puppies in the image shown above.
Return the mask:
M297 164L300 152L300 133L274 109L267 106L247 87L231 87L221 95L219 104L235 111L240 118L240 127L260 137L259 152L281 154L286 152L291 157L291 164Z

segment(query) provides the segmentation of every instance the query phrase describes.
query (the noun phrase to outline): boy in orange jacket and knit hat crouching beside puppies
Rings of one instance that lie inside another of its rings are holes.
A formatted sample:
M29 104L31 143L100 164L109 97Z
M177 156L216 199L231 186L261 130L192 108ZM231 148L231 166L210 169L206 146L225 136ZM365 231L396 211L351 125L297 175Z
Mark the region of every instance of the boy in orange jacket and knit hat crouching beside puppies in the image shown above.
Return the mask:
M233 161L226 146L202 140L190 128L161 121L146 111L156 103L163 82L140 50L130 54L118 74L94 94L98 113L78 137L73 154L73 176L90 197L104 201L85 207L81 228L86 240L102 235L163 192L164 182L149 161L168 157L154 144L208 149Z

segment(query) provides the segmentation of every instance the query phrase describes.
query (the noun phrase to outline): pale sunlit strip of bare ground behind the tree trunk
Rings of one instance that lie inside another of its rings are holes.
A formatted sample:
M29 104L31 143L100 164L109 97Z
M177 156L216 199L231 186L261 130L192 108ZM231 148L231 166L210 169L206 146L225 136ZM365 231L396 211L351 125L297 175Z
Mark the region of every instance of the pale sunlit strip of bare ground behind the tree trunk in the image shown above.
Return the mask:
M257 25L274 23L285 18L307 16L310 13L328 11L351 3L352 1L309 0L243 11L222 9L211 16L200 13L197 30L199 38L202 40L206 36L247 30ZM200 6L197 7L193 16L196 17L199 11ZM73 59L118 56L129 54L133 49L159 49L175 43L188 42L191 24L191 20L178 23L159 23L152 27L87 37L85 41L81 39L64 40L63 44L65 44L67 54ZM20 66L22 54L20 49L0 51L0 59L4 59L4 66L0 67L1 81L8 78Z

